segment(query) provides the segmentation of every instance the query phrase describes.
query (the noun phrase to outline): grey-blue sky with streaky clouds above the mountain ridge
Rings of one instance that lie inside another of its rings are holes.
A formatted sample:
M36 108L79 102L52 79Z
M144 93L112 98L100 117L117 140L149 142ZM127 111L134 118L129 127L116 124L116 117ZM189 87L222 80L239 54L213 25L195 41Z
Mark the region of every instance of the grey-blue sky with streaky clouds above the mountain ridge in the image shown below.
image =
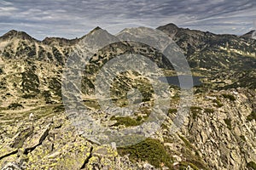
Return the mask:
M255 0L1 0L0 35L82 37L96 26L177 26L241 35L256 27Z

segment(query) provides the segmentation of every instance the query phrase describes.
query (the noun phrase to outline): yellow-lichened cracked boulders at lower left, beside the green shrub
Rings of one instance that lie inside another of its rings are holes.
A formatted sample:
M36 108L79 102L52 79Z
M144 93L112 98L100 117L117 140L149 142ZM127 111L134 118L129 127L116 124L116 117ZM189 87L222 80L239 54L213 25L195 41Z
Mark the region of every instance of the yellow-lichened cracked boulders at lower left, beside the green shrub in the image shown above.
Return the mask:
M3 127L0 167L16 169L109 169L132 167L129 158L118 156L110 144L91 144L71 126L64 113ZM32 131L23 126L32 126ZM20 129L19 129L20 128ZM16 131L20 131L15 134ZM22 134L22 135L21 135ZM14 137L12 137L14 136ZM26 139L21 139L21 136ZM18 141L23 143L16 144ZM123 161L127 165L123 165ZM135 166L134 166L135 167Z

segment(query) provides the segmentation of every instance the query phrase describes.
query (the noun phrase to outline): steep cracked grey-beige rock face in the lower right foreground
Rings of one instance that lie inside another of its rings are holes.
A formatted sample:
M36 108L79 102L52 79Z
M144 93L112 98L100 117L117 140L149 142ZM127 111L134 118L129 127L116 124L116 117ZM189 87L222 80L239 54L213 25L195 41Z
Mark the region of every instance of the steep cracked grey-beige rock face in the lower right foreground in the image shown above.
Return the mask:
M220 91L217 95L223 106L214 106L214 100L203 101L203 96L196 96L203 108L189 117L186 137L199 149L202 157L211 168L246 169L247 162L255 160L255 120L247 121L253 111L249 102L248 91ZM234 95L236 100L230 101L221 94ZM254 92L255 94L255 92ZM212 102L212 104L211 104ZM254 100L255 102L255 100ZM207 109L207 108L211 109Z

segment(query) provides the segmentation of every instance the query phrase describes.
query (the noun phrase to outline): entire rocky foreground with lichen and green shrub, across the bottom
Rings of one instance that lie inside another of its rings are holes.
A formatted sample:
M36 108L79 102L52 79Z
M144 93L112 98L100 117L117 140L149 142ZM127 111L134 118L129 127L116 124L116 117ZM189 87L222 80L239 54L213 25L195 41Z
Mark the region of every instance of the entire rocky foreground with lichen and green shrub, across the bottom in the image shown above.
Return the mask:
M0 165L20 169L252 169L256 122L247 117L255 109L253 96L255 91L246 88L195 94L190 114L178 133L170 132L177 111L172 102L166 121L151 137L154 140L146 140L143 147L92 143L61 111L46 117L26 116L22 122L2 125ZM133 147L141 155L134 157L137 152ZM169 163L160 158L162 164L154 164L148 154L143 157L143 152L154 153L161 150L159 147L164 147Z

